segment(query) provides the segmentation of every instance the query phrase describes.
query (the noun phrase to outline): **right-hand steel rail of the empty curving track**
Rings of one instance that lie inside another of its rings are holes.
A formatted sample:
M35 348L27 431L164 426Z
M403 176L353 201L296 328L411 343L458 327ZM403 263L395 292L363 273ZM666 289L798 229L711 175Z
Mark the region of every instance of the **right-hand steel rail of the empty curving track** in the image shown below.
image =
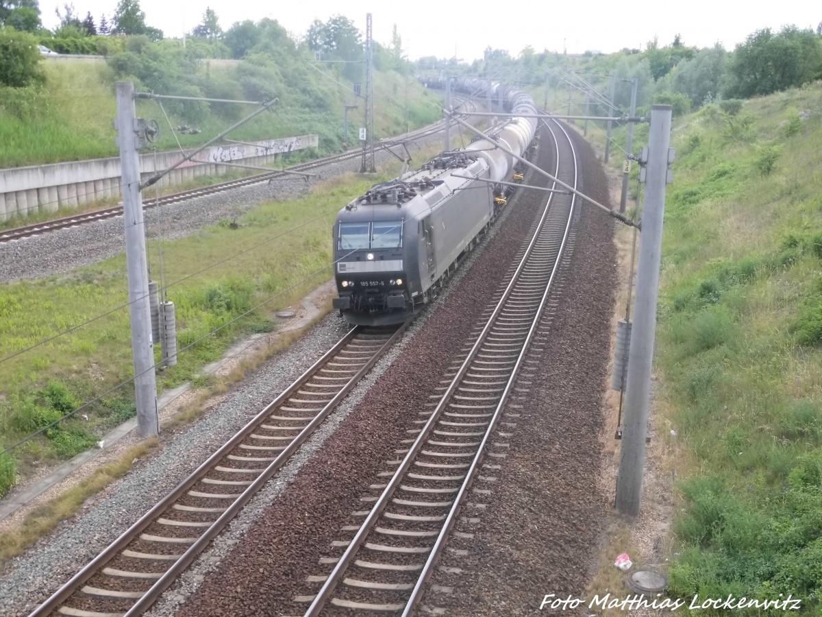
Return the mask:
M556 123L556 124L560 127L561 131L563 133L565 133L566 138L568 140L568 143L570 144L571 152L573 154L573 159L572 160L574 161L574 186L576 186L577 180L579 178L579 170L578 170L577 165L576 165L576 152L574 150L574 144L571 141L570 137L568 136L568 132L566 131L566 129L563 128L561 125L559 125L559 123ZM556 186L556 183L554 183L554 185ZM549 197L549 199L550 198L551 197ZM448 535L450 534L451 529L454 527L454 524L456 522L457 513L459 512L459 508L462 504L464 496L468 492L469 487L473 482L473 477L474 477L474 475L476 474L476 472L478 470L479 464L483 461L483 457L484 457L484 454L485 454L485 447L487 445L488 439L491 437L491 434L492 434L493 430L496 428L496 424L500 420L500 417L502 415L502 410L506 406L506 402L508 401L508 397L510 396L511 388L514 387L516 378L517 378L518 374L520 373L520 368L522 366L522 363L524 362L525 356L528 354L529 345L531 343L531 340L533 339L534 333L537 331L539 320L542 316L543 310L545 308L545 304L547 303L548 295L550 295L550 293L552 291L553 282L556 278L556 273L557 273L557 271L559 271L559 267L561 265L562 253L564 253L564 251L565 251L566 243L568 241L568 234L570 233L571 221L573 220L573 217L574 217L575 202L576 202L576 196L572 195L571 196L571 202L570 202L570 209L569 209L569 212L568 212L568 220L566 222L565 233L562 235L562 244L559 248L559 251L556 254L556 261L554 262L554 266L553 266L552 271L551 271L551 276L548 278L548 282L547 282L547 285L545 287L543 297L540 300L539 307L537 308L536 313L534 315L533 322L531 324L531 327L529 328L528 335L525 337L525 341L523 343L522 350L520 351L520 355L517 357L516 363L514 365L514 369L511 371L510 379L509 379L508 383L506 384L505 390L502 392L501 400L500 400L499 404L496 406L496 410L494 411L494 415L492 416L492 419L488 424L488 428L486 430L486 433L485 433L485 435L483 435L483 439L482 439L482 441L479 445L477 455L475 457L473 457L473 461L471 462L471 466L469 467L469 470L466 471L466 473L465 473L465 479L463 481L462 486L460 486L460 488L459 488L459 492L456 494L456 497L454 499L454 504L451 506L451 509L450 509L449 513L446 515L446 520L443 523L442 531L440 532L440 535L437 536L436 541L434 542L434 545L432 547L432 550L428 554L428 559L427 559L425 565L423 566L423 570L422 570L422 572L420 573L420 575L418 577L417 583L414 585L413 591L411 591L411 596L409 596L409 600L407 601L407 603L405 605L405 609L403 610L402 617L409 617L412 614L412 611L413 611L414 607L418 604L418 602L420 601L420 599L423 596L423 588L425 586L425 583L427 582L428 578L431 577L431 575L433 573L433 568L436 564L436 560L439 558L439 556L441 554L441 551L445 547L446 539L447 539ZM548 208L546 207L546 214L547 214L547 211L548 211Z

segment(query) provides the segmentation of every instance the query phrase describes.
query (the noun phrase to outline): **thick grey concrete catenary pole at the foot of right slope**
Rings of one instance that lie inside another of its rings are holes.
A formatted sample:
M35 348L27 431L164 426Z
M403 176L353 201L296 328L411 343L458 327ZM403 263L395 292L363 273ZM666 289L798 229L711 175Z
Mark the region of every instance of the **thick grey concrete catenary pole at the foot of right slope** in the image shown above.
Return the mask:
M645 201L642 210L640 258L636 273L634 322L625 398L625 424L617 476L617 511L640 513L645 435L651 393L653 336L657 320L659 262L663 246L663 216L671 143L671 105L653 105L648 142Z

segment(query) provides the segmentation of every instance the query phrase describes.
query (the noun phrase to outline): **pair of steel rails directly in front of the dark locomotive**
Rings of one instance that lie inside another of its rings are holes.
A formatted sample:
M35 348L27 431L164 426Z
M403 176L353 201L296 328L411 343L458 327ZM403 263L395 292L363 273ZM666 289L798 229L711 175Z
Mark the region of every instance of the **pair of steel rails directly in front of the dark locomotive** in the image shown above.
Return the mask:
M363 378L363 375L372 369L373 365L376 364L376 361L384 355L385 351L389 349L399 335L404 332L404 329L408 326L408 323L409 322L405 322L392 336L390 336L383 346L381 346L380 350L377 350L372 358L368 360L367 363L364 364L363 367L349 379L349 382L344 384L335 397L323 407L323 410L320 411L316 417L293 438L293 440L289 443L289 446L286 447L283 452L280 452L279 456L266 467L266 470L263 471L261 475L258 476L256 480L254 480L252 484L238 496L237 499L235 499L235 501L212 524L212 526L203 532L196 542L193 543L192 546L190 546L189 549L182 554L177 561L175 561L172 567L169 568L169 570L164 573L164 575L159 578L159 580L155 582L155 584L150 587L148 591L145 592L145 595L132 606L132 609L128 610L128 612L124 615L139 615L157 600L159 595L172 584L174 578L177 578L179 573L191 564L191 562L196 558L196 555L199 554L206 545L208 545L210 540L212 540L214 536L219 533L219 531L222 531L226 524L228 524L228 522L236 516L240 509L242 509L242 506L244 506L253 497L253 495L266 484L266 482L270 479L270 476L273 476L274 473L285 464L293 452L295 452L297 448L302 445L302 443L313 433L314 429L316 429L316 427L326 419L327 415L330 414L330 411L332 411L334 407L339 404L339 401L341 401L358 383L358 381ZM363 332L363 327L353 327L349 330L349 332L337 341L337 343L335 343L330 350L326 351L326 353L323 354L319 360L316 360L316 362L314 362L309 369L303 372L302 375L300 375L300 377L298 377L289 387L287 387L284 392L276 397L274 401L271 401L262 411L255 415L252 420L249 420L237 434L224 443L223 446L221 446L217 451L211 454L205 462L202 462L191 475L189 475L185 480L182 480L182 482L169 494L167 494L164 499L161 499L155 504L154 507L150 508L150 510L146 512L139 520L124 531L117 538L117 540L114 540L113 543L97 555L95 559L92 559L89 564L86 564L85 567L80 570L80 572L76 573L68 582L60 587L58 591L55 591L52 596L48 597L43 604L39 605L39 607L30 614L30 617L41 617L42 615L48 615L53 610L57 610L59 605L76 593L78 587L98 573L99 569L102 568L104 564L107 564L111 559L116 557L119 552L129 545L132 540L134 540L142 531L145 530L145 528L149 527L150 524L164 512L164 510L180 499L180 497L185 494L188 489L195 485L201 477L205 476L205 473L209 471L210 468L215 466L215 464L235 446L237 446L238 443L242 442L242 440L247 437L247 434L255 429L258 424L261 424L261 422L266 419L266 416L270 414L271 410L275 409L284 401L287 401L289 397L297 392L302 385L312 377L312 375L319 371L319 369L321 369L326 362L334 357L339 350L343 349L344 346L352 341L353 338L355 338L355 336L357 336L360 332Z

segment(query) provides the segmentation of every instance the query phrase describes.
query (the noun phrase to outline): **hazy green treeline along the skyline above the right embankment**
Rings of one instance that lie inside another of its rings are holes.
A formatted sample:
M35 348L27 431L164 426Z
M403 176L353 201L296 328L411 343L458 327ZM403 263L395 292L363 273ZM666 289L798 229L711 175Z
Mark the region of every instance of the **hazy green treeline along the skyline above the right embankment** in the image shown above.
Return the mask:
M820 33L822 24L817 30L785 26L774 32L765 28L749 35L732 52L721 44L704 49L689 47L678 35L667 45L654 39L644 51L626 48L611 54L586 52L582 57L538 53L529 46L514 58L506 50L488 48L482 60L470 65L420 58L418 70L510 79L535 87L542 86L550 75L552 90L567 91L565 69L590 76L589 81L601 86L605 95L609 76L615 75L615 102L622 109L630 104L628 80L636 77L640 109L667 103L674 106L675 113L683 114L704 104L768 95L822 79Z

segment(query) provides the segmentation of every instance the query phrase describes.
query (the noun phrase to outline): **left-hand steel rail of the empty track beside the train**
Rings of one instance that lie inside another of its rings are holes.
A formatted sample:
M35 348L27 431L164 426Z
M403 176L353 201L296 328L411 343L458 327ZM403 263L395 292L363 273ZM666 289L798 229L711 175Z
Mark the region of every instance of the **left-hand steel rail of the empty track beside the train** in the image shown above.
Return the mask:
M557 165L559 165L558 156ZM473 360L476 359L478 352L483 346L483 342L485 342L485 339L487 338L489 332L492 330L492 327L496 322L496 319L503 312L507 300L510 298L510 295L515 290L515 286L517 285L520 279L520 275L524 271L524 268L527 266L529 262L529 257L533 253L533 249L535 248L536 244L538 244L541 231L543 230L543 225L547 220L548 212L549 208L546 206L543 211L543 215L540 217L539 223L537 225L537 230L533 234L533 237L529 242L528 248L526 248L523 257L520 260L520 264L516 268L516 271L513 274L513 276L511 276L511 280L506 286L506 290L501 295L501 299L497 302L495 308L493 309L491 316L487 318L487 322L483 327L483 330L479 333L477 340L473 343L471 350L469 350L468 355L466 356L463 363L460 365L454 378L452 378L450 384L446 388L446 391L443 392L442 397L440 398L440 401L437 403L434 411L432 411L431 416L423 425L423 428L420 430L417 438L413 441L413 444L409 447L409 451L405 454L403 460L399 462L399 466L397 467L394 475L391 476L391 479L386 484L386 487L382 490L380 497L376 500L376 503L373 505L371 511L367 514L367 517L363 521L363 524L359 527L357 533L353 536L353 539L350 540L349 545L347 546L342 556L339 557L339 560L336 562L335 567L326 578L326 581L323 583L320 591L316 593L316 596L314 597L312 604L308 606L303 617L316 617L316 615L319 615L321 610L325 607L326 602L330 599L331 594L335 591L340 580L343 578L344 573L349 569L350 565L353 563L355 556L358 554L358 551L362 548L365 540L367 539L367 536L375 527L378 519L381 517L381 514L383 513L391 497L395 493L395 489L397 489L400 482L403 480L406 472L409 470L409 467L411 466L414 458L417 456L418 452L422 449L423 444L432 434L432 430L436 426L438 420L440 420L442 412L445 411L446 406L450 401L450 398L455 393L457 387L459 387L459 383L461 383L462 378L464 378L465 376L465 373L468 373L469 368L473 363ZM556 257L556 262L559 262L559 255ZM538 317L539 313L537 313L535 320L538 320ZM517 365L519 366L519 364ZM483 445L485 441L486 439L483 439ZM455 502L455 506L457 503L458 502Z

